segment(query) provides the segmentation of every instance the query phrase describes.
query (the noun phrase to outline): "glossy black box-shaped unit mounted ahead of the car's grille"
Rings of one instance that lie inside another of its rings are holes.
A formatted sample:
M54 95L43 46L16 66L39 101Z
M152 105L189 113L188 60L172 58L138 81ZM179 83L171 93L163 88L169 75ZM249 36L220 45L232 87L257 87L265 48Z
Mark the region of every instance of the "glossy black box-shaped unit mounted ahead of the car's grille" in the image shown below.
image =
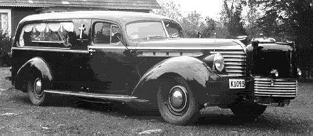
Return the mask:
M296 52L291 44L256 43L247 46L247 70L253 76L297 79ZM267 64L267 65L264 65ZM271 74L277 70L278 77Z

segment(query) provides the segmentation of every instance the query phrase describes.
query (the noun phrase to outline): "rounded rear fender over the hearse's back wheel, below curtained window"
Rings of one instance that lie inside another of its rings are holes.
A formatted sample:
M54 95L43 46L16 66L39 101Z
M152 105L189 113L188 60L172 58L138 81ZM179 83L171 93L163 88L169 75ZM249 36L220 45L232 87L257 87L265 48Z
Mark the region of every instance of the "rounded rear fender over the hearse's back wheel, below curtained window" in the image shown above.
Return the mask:
M31 74L40 74L44 85L49 85L53 80L49 64L47 64L41 57L33 57L18 70L14 80L14 87L17 90L26 92L27 90L25 87Z

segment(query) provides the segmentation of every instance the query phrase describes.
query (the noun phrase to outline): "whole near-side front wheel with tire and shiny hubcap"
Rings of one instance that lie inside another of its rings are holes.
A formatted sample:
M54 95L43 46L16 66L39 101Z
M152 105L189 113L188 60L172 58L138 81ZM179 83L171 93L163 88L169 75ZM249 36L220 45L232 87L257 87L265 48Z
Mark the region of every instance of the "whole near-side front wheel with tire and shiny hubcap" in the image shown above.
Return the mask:
M172 124L185 125L194 122L200 114L196 100L182 78L163 81L157 101L162 118Z

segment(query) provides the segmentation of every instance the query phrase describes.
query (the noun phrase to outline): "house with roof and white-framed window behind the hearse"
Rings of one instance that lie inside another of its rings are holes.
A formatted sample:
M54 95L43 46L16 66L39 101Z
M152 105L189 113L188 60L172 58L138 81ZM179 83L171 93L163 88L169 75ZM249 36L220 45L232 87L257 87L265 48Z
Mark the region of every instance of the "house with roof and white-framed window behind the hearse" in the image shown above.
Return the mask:
M77 10L151 12L159 8L157 0L0 0L0 28L14 36L19 21L30 14Z

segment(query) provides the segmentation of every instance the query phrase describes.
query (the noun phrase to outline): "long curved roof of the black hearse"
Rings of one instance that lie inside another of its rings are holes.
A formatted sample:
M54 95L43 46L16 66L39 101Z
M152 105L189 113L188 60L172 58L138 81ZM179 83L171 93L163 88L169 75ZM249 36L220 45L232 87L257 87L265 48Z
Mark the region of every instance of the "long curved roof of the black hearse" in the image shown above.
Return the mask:
M72 18L94 18L106 19L118 23L128 23L133 21L163 21L172 20L165 16L160 16L152 13L142 12L120 12L120 11L79 11L79 12L56 12L45 14L33 14L26 16L20 21L21 23L27 21L44 21L44 20L59 20Z

